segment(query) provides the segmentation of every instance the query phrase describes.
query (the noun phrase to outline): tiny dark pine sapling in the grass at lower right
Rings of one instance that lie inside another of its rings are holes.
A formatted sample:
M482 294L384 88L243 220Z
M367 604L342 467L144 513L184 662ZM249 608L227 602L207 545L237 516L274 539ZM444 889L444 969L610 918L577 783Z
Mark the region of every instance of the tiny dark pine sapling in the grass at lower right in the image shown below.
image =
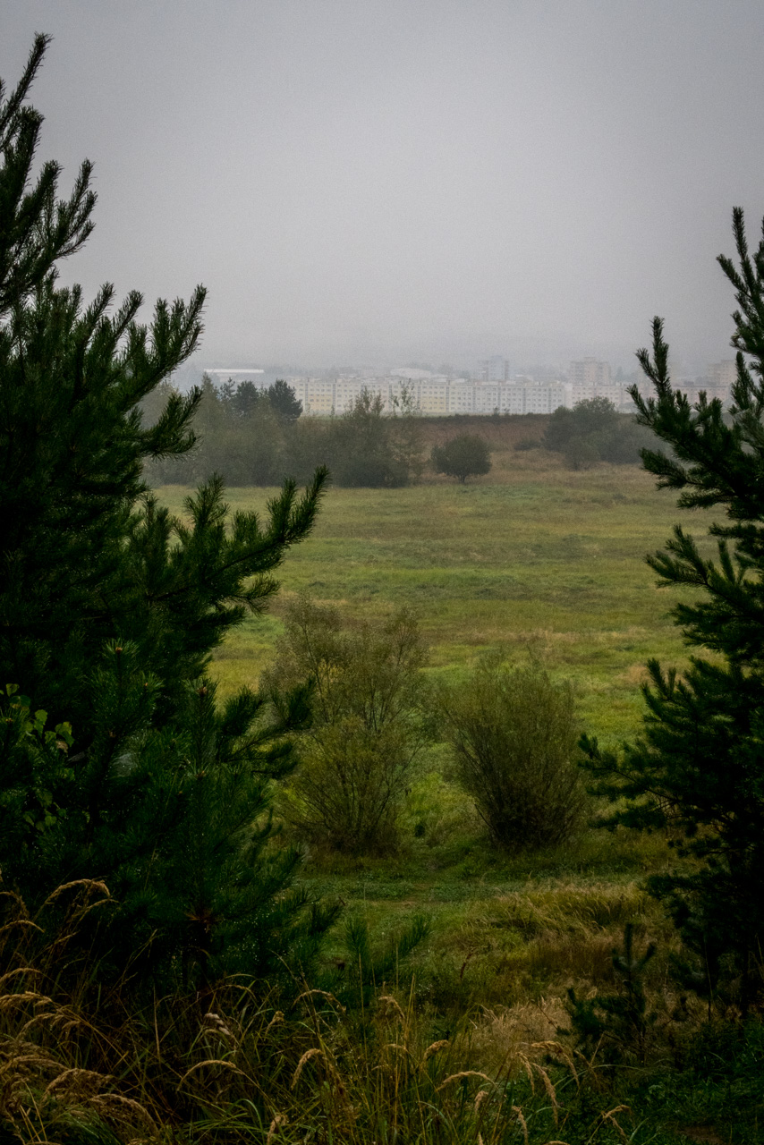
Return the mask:
M592 1060L609 1063L636 1058L645 1060L648 1035L656 1016L647 1009L645 970L655 955L653 942L643 955L633 948L633 925L623 931L623 950L613 950L613 970L616 976L615 994L597 994L580 998L573 987L568 989L566 1009L570 1016L570 1030L576 1048Z

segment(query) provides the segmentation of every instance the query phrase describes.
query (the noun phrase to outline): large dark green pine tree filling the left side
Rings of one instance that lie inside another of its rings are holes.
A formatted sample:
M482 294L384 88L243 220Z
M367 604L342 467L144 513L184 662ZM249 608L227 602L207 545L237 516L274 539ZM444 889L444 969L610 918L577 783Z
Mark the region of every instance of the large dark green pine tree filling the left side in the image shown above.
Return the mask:
M86 306L57 285L95 196L89 164L69 200L56 164L31 185L42 120L25 98L46 46L37 37L0 101L0 670L17 686L3 701L0 864L32 900L55 881L105 878L120 902L108 941L148 943L155 969L258 972L330 921L290 895L297 855L266 847L305 696L275 716L244 689L218 712L205 671L276 591L324 473L301 497L286 482L265 521L229 515L218 477L184 520L149 492L147 460L194 445L200 393L170 389L148 427L141 403L196 348L204 290L159 301L145 326L137 293L112 313L112 287Z

